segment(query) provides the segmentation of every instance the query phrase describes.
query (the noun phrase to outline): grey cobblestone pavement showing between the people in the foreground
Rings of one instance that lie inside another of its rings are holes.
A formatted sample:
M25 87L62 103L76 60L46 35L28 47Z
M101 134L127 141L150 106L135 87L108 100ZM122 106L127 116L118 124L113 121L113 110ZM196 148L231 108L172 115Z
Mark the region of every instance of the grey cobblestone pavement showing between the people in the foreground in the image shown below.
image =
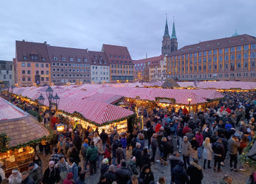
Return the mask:
M147 140L146 140L147 144ZM176 140L174 139L174 147L176 149ZM175 150L177 151L177 150ZM127 160L131 158L132 150L129 149L127 151ZM48 156L41 155L41 159L43 160L43 171L46 170L46 167L48 166ZM180 156L182 160L182 155ZM158 152L156 152L156 160L159 159ZM82 159L81 159L82 160ZM192 159L191 159L192 161ZM203 159L199 160L199 164L203 167ZM80 166L82 166L82 161L80 162ZM248 176L253 172L252 168L247 168L248 171L242 172L239 171L238 173L235 173L234 171L229 170L229 157L227 156L225 159L225 166L221 167L222 170L221 173L217 173L216 171L213 171L213 161L211 161L210 166L211 169L203 170L203 184L217 184L219 181L225 176L225 174L228 174L232 176L233 178L233 184L245 184ZM241 167L240 161L238 161L238 168ZM166 184L169 184L171 181L171 166L170 163L168 166L161 165L159 162L156 162L152 164L151 166L152 171L154 172L154 178L155 182L158 181L160 176L164 176L166 178ZM86 181L90 184L96 184L100 180L100 169L98 169L97 174L94 176L87 176Z

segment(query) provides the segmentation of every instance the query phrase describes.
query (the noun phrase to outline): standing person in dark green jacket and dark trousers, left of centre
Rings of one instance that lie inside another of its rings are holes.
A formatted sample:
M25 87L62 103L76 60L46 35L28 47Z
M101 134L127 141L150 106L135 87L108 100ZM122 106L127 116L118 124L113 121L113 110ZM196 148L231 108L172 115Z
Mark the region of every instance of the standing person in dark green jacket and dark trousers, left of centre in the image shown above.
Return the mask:
M86 151L86 158L88 159L90 163L90 175L94 175L97 173L97 166L96 166L96 161L97 161L97 146L95 146L94 141L90 142L90 147Z

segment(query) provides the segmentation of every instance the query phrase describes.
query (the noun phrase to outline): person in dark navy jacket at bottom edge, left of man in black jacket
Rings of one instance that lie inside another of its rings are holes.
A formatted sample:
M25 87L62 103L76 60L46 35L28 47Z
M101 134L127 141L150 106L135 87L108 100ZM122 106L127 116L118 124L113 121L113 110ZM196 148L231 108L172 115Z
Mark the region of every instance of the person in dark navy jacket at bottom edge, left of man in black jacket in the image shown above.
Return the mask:
M171 172L171 181L175 184L188 184L188 175L184 170L184 163L183 161L179 161L178 165L176 165Z

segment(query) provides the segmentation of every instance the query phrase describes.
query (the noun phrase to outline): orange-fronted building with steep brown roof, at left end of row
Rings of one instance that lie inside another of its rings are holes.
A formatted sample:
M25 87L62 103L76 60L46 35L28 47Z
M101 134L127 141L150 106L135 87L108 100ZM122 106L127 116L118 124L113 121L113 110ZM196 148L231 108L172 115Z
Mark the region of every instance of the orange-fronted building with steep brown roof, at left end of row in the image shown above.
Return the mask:
M18 86L50 84L47 43L16 41L14 72Z

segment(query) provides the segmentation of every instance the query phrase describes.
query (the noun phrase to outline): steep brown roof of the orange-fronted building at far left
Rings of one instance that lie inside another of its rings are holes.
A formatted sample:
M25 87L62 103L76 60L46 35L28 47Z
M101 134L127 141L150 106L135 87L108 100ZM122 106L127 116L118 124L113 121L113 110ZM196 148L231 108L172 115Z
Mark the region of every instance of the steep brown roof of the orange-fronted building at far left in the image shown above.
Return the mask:
M38 59L36 60L36 62L50 62L50 59L48 57L48 51L44 43L16 40L16 54L16 59L18 62L31 61L30 54L38 55ZM24 57L27 57L27 59L25 60ZM42 57L44 57L46 60L43 61Z

